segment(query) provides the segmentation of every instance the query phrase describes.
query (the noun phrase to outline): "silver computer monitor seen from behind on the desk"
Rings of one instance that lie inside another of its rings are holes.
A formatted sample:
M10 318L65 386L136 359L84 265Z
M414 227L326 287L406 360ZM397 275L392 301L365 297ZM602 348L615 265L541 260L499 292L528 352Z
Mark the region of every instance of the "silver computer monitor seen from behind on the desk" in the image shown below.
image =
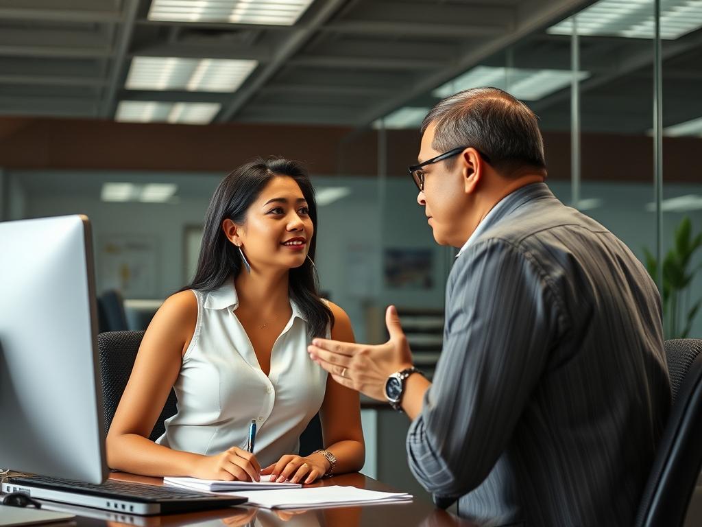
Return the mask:
M101 483L90 223L0 223L0 467Z

